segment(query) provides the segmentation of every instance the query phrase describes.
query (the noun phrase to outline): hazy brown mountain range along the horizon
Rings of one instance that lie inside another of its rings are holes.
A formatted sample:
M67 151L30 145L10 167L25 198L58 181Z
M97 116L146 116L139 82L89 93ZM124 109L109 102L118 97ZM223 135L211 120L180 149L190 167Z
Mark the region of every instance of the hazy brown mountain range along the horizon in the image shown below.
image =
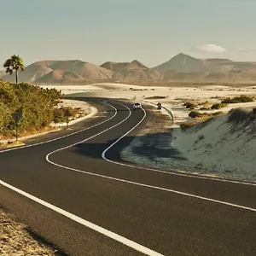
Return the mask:
M15 75L0 71L0 79L15 82ZM101 66L79 60L37 61L20 72L20 82L33 84L90 84L95 82L253 81L256 62L196 59L180 53L157 67L140 61L112 62Z

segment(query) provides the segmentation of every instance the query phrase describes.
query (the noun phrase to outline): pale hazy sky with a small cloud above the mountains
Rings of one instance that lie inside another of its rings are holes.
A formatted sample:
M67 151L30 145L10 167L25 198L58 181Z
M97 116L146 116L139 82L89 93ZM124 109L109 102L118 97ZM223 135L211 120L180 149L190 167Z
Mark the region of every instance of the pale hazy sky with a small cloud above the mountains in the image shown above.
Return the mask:
M0 0L0 63L256 61L256 0ZM1 62L2 61L2 62ZM0 67L0 70L3 69Z

